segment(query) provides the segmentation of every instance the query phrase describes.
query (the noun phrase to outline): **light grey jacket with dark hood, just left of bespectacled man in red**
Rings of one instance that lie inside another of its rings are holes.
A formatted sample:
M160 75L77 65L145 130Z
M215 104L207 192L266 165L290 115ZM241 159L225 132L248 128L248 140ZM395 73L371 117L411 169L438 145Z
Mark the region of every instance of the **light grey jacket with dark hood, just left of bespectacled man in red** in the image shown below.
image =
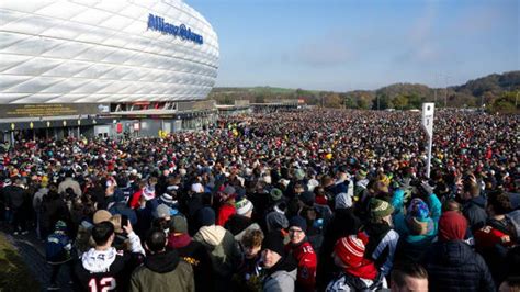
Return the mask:
M296 281L297 262L292 255L282 258L276 265L267 269L263 279L263 292L293 292Z

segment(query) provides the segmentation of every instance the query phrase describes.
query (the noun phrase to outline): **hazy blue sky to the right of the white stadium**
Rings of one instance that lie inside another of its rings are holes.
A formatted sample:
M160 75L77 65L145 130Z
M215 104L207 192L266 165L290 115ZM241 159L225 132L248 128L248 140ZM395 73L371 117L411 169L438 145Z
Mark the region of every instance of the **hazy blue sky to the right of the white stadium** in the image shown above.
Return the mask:
M444 87L520 69L518 0L185 2L218 35L217 87Z

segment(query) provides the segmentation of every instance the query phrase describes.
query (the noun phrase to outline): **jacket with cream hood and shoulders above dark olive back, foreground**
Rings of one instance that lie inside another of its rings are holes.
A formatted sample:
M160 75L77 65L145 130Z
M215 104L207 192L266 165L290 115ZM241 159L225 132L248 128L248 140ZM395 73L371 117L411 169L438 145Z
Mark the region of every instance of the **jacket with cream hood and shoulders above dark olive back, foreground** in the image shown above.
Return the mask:
M201 243L210 254L215 280L230 279L240 262L240 250L233 234L218 225L202 226L193 240Z

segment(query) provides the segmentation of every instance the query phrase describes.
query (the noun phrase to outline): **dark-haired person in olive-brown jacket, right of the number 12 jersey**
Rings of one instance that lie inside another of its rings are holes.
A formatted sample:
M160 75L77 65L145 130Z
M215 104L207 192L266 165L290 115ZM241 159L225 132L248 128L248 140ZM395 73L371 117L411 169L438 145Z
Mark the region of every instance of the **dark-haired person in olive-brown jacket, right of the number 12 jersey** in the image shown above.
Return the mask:
M167 249L167 236L160 228L148 232L145 247L149 255L129 280L129 291L195 291L193 269L174 249Z

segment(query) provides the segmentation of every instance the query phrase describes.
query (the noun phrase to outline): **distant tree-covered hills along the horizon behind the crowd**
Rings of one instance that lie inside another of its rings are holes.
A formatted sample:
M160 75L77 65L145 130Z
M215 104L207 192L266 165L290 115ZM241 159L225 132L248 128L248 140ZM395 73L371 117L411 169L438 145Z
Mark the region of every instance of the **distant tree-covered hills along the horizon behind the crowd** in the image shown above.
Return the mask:
M268 102L281 99L304 99L307 104L359 109L412 109L425 101L440 106L481 106L491 104L507 92L520 90L520 71L493 74L461 86L430 88L419 83L395 83L376 90L331 92L276 87L214 88L210 99L233 104L235 100Z

